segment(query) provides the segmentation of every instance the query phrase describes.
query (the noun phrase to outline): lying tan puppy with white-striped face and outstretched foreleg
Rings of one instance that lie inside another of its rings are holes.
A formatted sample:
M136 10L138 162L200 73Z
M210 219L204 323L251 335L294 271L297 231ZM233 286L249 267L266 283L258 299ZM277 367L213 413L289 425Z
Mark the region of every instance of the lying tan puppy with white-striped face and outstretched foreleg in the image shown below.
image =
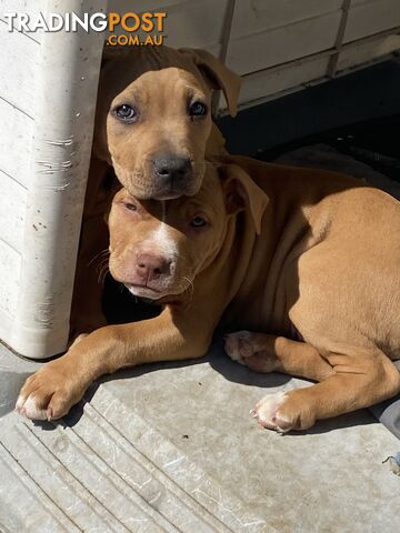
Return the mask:
M29 378L21 413L57 419L103 373L200 356L219 323L264 332L229 334L233 359L320 382L261 400L267 428L308 429L400 391L400 204L341 174L231 160L241 168L209 164L192 198L117 193L110 271L164 309L94 331Z

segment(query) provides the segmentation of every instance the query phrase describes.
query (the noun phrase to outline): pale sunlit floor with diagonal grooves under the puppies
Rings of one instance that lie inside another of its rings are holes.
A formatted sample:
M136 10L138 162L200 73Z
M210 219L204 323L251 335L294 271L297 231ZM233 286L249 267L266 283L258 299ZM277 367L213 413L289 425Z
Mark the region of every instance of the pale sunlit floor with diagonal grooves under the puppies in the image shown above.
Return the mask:
M323 150L312 159L338 164ZM400 479L382 463L400 443L368 411L283 436L249 415L304 381L253 373L216 342L103 380L50 424L13 412L38 368L0 346L1 532L400 531Z

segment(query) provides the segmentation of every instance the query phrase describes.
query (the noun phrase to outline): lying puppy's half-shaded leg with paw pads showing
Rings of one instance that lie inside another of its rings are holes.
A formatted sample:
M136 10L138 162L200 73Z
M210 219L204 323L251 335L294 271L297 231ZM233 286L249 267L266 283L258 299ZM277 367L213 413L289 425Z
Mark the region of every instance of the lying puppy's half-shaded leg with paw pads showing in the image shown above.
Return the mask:
M316 348L284 336L238 331L226 335L224 350L233 361L256 372L284 372L314 381L333 373Z

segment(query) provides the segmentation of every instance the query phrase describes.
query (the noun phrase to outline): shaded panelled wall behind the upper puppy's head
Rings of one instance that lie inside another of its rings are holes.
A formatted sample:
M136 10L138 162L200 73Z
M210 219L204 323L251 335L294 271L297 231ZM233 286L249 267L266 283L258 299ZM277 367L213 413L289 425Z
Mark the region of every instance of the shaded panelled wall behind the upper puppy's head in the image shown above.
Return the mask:
M232 3L233 17L224 27ZM128 10L143 11L143 3L109 3L109 11ZM394 40L379 33L400 27L399 0L154 0L146 10L167 12L166 44L204 48L243 76L241 105L376 60L396 49ZM374 44L361 41L377 33ZM226 47L222 36L228 36ZM359 52L343 47L354 39Z

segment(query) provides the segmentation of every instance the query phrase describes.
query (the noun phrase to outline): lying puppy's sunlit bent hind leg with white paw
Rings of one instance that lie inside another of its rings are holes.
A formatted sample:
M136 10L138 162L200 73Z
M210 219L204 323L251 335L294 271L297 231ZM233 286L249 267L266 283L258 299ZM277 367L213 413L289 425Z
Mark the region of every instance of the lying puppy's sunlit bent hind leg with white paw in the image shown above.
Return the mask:
M368 408L400 391L398 369L378 349L354 348L327 360L333 373L321 383L264 396L254 409L259 423L281 432L307 430L316 420Z

